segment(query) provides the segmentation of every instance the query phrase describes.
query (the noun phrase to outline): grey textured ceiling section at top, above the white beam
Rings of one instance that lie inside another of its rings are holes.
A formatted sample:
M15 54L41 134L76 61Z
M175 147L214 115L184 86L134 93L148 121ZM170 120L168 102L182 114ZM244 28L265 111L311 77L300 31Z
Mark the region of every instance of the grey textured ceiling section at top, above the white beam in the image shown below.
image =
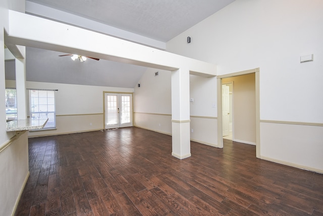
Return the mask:
M234 2L234 0L28 1L164 42Z

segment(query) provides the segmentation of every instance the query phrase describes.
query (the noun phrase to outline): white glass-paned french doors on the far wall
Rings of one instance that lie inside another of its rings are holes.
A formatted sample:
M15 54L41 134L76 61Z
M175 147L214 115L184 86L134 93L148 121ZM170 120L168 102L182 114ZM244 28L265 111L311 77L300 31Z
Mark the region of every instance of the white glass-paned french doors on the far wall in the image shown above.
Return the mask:
M132 94L104 93L104 129L132 126Z

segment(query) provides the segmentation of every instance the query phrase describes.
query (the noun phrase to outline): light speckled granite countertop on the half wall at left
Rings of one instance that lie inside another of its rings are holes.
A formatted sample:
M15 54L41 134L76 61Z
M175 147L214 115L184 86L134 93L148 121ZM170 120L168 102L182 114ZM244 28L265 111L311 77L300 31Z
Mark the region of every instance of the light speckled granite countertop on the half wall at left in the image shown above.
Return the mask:
M28 131L34 129L42 129L48 119L30 119L12 120L7 122L7 131Z

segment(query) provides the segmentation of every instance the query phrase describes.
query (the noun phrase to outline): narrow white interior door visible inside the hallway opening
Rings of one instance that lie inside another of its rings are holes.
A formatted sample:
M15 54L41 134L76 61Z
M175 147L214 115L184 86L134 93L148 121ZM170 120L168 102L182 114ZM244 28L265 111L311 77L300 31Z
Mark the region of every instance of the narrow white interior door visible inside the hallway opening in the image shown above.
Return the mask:
M229 101L229 86L222 85L222 122L223 122L223 136L229 135L229 115L230 115L230 101Z

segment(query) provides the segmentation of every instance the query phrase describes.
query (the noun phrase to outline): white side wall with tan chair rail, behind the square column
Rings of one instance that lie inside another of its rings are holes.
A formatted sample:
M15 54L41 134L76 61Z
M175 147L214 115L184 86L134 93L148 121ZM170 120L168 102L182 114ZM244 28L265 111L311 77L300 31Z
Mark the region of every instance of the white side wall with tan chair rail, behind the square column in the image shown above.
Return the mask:
M158 72L158 76L155 76ZM217 146L217 88L216 77L190 75L190 138ZM147 69L135 87L134 125L159 133L172 134L171 72ZM206 128L204 128L204 127Z

